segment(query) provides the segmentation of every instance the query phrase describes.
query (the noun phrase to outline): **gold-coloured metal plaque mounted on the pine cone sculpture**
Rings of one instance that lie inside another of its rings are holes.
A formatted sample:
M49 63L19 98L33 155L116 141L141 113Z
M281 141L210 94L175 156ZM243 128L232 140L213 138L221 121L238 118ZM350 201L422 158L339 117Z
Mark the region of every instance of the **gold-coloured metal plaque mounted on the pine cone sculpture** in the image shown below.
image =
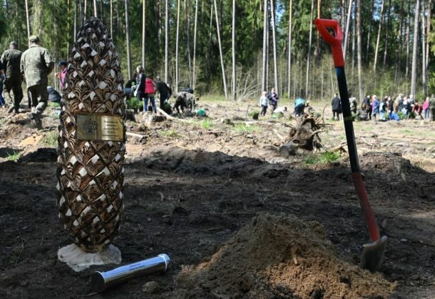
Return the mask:
M79 140L124 141L122 117L79 114L76 137Z

